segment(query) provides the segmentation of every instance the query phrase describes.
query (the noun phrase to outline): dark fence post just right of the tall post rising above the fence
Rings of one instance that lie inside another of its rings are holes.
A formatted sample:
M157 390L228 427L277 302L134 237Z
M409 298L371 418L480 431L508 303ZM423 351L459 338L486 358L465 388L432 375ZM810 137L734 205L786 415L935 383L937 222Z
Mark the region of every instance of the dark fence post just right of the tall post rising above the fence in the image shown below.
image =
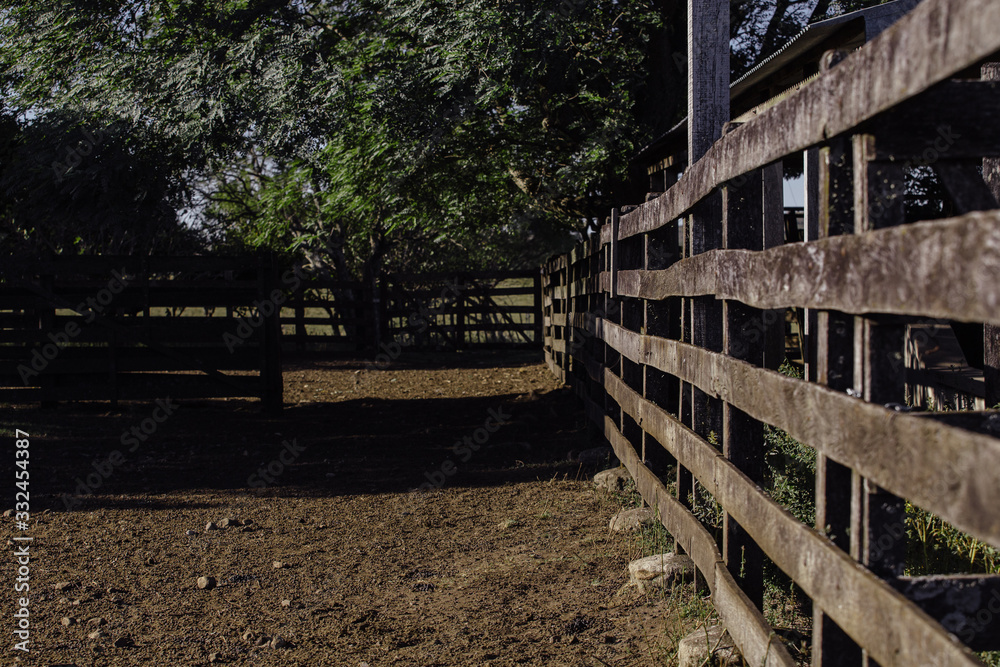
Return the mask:
M766 190L760 171L746 174L722 192L722 235L726 249L762 250L767 220ZM738 301L723 302L723 351L763 366L767 356L765 311ZM782 323L783 324L783 323ZM723 454L751 480L764 481L764 425L723 404ZM764 552L729 513L723 515L722 556L740 588L758 608L764 604Z

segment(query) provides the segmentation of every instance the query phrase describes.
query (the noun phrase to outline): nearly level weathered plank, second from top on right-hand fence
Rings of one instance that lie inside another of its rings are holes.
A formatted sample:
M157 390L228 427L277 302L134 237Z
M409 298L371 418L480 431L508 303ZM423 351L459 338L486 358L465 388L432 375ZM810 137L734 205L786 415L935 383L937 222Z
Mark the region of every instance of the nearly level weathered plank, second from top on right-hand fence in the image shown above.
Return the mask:
M804 307L1000 324L1000 211L762 252L715 250L662 271L624 271L624 296L714 294Z

